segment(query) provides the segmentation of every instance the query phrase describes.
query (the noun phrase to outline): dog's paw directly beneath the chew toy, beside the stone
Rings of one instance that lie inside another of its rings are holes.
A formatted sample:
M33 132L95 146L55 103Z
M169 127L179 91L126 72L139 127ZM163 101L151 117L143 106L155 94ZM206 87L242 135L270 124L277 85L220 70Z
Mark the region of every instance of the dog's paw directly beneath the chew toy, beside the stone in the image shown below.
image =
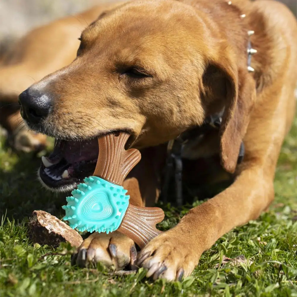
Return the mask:
M136 255L134 241L124 234L118 231L109 234L94 232L80 245L71 263L86 267L100 262L107 267L122 269L128 264L133 265Z

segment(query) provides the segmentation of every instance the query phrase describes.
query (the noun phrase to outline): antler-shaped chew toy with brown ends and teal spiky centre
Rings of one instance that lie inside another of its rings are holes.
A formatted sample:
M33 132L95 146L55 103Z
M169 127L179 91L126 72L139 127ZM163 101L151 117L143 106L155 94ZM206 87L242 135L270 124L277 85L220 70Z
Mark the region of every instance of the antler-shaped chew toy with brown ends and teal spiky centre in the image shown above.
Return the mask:
M130 196L121 185L130 170L140 161L137 149L125 150L126 132L98 138L99 155L93 176L86 177L66 198L64 220L79 231L113 232L118 230L140 248L161 231L156 224L164 219L158 207L129 204Z

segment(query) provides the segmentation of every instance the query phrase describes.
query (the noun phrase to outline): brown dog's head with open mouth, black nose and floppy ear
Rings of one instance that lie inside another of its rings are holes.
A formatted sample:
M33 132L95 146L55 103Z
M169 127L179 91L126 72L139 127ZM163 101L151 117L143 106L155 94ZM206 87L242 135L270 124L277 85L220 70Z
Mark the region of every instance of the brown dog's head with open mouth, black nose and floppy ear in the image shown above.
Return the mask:
M127 131L128 146L154 146L224 106L222 164L234 171L254 87L208 25L177 1L133 1L85 29L75 61L20 95L29 127L57 139L42 181L62 189L92 174L99 135Z

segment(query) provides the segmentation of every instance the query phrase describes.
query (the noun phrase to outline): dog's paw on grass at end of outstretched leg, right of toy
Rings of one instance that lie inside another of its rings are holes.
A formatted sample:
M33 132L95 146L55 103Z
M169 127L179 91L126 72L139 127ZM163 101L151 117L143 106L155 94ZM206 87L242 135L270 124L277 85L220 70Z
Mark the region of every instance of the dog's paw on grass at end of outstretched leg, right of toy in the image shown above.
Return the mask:
M195 255L195 247L182 234L172 231L152 239L138 254L137 264L148 269L147 277L180 281L197 265L200 255Z

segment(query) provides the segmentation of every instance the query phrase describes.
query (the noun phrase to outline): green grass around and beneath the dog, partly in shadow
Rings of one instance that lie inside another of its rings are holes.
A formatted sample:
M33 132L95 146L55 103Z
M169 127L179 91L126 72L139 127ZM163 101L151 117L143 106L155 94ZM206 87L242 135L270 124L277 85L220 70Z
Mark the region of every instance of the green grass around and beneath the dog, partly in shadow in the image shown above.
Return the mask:
M97 269L72 267L69 245L33 245L26 235L29 215L43 209L61 218L64 198L41 188L34 173L38 158L17 155L3 143L1 139L0 296L297 297L297 119L282 147L269 211L220 238L190 277L172 283L152 282L142 268L118 276L100 264ZM172 227L190 207L167 205L160 227ZM223 265L223 255L244 255L246 260Z

